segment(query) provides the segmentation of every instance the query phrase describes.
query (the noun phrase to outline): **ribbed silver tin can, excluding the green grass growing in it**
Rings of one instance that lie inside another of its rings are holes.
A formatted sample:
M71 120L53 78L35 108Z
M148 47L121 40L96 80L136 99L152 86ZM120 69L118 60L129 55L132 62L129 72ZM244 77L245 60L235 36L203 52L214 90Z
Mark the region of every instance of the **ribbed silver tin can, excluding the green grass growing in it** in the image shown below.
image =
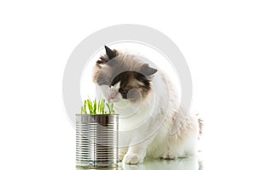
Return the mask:
M118 167L118 118L76 115L76 167Z

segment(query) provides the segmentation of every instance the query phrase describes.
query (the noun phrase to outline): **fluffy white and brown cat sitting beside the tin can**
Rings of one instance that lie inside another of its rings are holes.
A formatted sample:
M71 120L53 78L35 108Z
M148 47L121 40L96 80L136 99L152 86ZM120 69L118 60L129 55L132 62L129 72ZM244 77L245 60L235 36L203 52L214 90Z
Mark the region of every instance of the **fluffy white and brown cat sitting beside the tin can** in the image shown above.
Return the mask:
M145 157L194 156L202 124L197 116L179 110L167 74L137 54L107 46L105 51L96 60L93 82L121 117L119 161L138 164Z

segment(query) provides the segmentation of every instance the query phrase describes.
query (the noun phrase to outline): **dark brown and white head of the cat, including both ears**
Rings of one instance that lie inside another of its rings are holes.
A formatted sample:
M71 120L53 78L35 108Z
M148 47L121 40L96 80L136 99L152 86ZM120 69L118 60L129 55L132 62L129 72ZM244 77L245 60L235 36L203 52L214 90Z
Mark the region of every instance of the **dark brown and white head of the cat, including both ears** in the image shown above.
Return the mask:
M120 54L106 48L106 54L96 61L94 81L104 98L111 102L129 100L137 102L146 98L151 90L151 78L157 71L140 62L133 55Z

